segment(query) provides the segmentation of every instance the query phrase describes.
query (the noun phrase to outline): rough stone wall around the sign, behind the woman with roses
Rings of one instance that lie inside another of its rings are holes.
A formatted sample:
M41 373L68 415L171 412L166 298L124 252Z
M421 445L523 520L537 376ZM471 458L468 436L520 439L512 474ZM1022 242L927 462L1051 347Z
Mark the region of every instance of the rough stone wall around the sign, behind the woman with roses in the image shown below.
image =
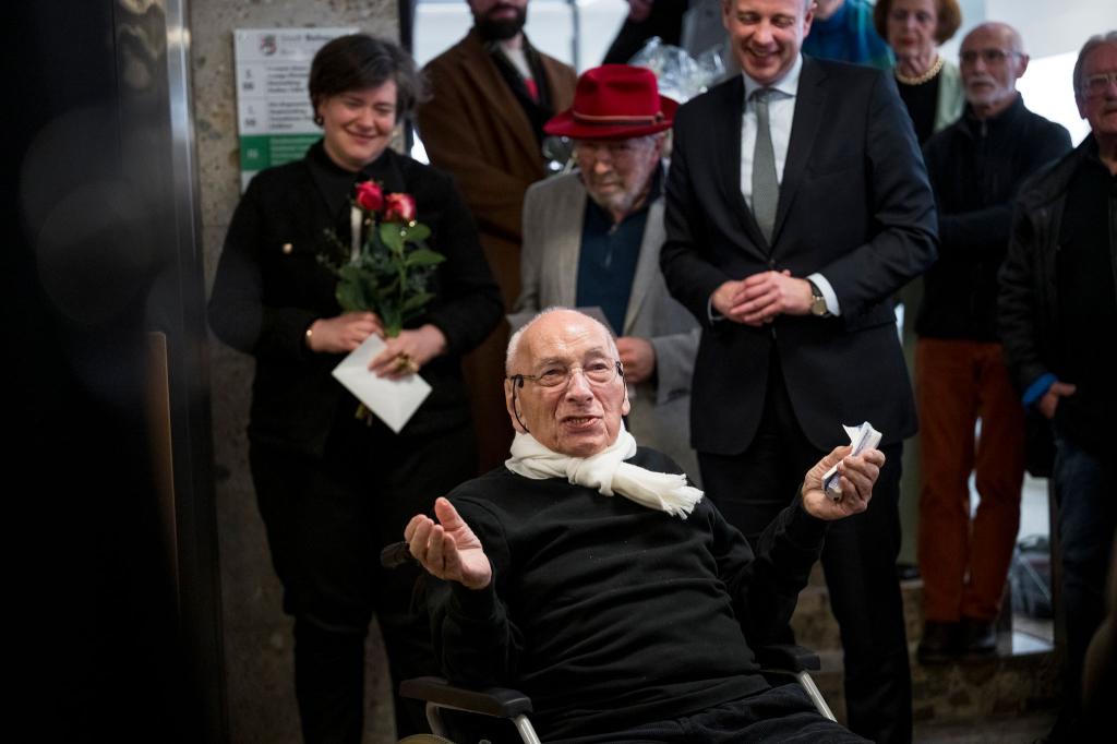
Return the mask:
M209 288L239 197L233 29L353 26L398 39L399 17L394 0L193 0L189 9ZM290 621L280 609L281 592L248 471L245 428L252 360L211 336L210 362L230 741L295 743L302 737ZM375 628L369 638L365 742L394 742L384 655Z

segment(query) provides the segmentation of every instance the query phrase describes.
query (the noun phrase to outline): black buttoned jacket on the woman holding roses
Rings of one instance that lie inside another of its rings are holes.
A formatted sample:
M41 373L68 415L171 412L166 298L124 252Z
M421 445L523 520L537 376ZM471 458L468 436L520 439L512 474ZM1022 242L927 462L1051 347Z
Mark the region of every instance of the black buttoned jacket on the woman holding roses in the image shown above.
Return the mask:
M336 277L318 261L336 252L325 231L347 223L352 187L340 173L321 142L303 160L258 173L233 213L209 303L218 337L256 357L249 439L314 456L323 452L337 406L356 407L331 376L343 355L315 354L305 345L315 319L341 312ZM365 174L385 192L414 197L417 219L431 228L429 245L447 257L435 274L435 299L408 324L437 326L447 352L420 373L432 391L400 433L460 426L469 418L460 356L503 313L472 218L449 177L391 150Z

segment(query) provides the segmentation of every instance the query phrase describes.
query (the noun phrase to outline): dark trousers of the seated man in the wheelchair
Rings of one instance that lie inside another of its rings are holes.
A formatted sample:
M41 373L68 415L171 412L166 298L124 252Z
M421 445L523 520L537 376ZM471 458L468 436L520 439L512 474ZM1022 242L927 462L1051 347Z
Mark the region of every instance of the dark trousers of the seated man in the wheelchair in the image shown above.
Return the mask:
M799 685L773 687L690 716L557 744L855 744L865 740L822 717Z

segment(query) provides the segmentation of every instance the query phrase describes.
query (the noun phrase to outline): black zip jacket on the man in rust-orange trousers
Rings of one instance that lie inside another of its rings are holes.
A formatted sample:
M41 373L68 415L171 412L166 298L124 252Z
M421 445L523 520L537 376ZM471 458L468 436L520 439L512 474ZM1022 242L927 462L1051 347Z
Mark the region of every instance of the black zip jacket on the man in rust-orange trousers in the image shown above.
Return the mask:
M938 207L938 260L924 277L916 333L997 341L996 275L1009 247L1020 184L1070 152L1062 126L1033 114L1018 95L1000 115L962 118L927 142L924 159Z

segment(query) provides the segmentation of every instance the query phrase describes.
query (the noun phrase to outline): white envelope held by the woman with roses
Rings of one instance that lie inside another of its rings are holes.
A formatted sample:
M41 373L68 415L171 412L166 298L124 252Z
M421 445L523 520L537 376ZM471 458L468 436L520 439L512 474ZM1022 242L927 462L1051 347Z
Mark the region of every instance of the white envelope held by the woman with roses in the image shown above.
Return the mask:
M333 375L356 395L395 433L411 420L416 410L430 394L430 385L418 374L402 380L378 378L369 371L369 362L384 349L380 336L371 335L334 368Z

